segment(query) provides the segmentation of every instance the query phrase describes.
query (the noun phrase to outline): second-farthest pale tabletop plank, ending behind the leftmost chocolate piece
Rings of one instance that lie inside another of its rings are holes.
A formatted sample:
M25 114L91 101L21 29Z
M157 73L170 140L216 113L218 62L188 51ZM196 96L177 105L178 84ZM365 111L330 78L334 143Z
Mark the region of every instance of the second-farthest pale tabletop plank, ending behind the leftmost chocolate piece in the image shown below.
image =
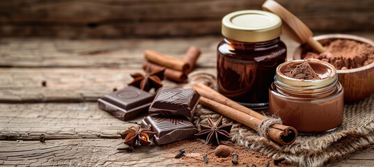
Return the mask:
M215 73L215 68L196 71ZM0 102L96 102L143 72L121 68L3 68L0 70ZM42 86L45 81L46 86ZM164 80L164 86L176 83Z

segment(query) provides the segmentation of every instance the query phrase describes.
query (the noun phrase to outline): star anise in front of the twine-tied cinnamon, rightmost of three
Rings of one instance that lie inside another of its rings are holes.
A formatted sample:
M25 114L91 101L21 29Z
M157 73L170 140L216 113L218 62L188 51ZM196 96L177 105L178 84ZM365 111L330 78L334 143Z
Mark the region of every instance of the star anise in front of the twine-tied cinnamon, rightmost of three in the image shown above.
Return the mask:
M200 125L201 132L195 134L198 138L206 138L205 143L214 143L219 145L219 141L227 141L231 138L230 130L233 127L232 124L222 125L222 116L213 125L212 120L208 117L209 126Z

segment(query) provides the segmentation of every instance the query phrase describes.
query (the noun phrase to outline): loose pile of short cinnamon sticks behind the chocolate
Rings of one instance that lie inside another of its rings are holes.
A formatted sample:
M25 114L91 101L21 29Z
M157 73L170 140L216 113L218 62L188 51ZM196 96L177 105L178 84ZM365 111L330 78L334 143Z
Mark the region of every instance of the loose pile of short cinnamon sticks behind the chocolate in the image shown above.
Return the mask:
M146 70L147 67L150 67L150 70L153 70L159 67L166 67L165 77L180 83L185 81L187 74L194 69L200 53L201 51L197 47L189 47L183 60L180 60L153 50L146 50L144 51L144 56L147 61L143 63L143 69Z

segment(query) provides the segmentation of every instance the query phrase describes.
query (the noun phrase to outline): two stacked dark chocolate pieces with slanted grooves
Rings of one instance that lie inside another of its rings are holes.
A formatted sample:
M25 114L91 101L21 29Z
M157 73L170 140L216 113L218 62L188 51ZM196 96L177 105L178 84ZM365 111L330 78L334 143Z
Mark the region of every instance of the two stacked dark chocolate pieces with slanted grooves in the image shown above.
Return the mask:
M142 127L150 127L155 132L157 145L193 137L198 132L187 118L194 116L200 95L192 89L162 88L150 105L150 113L141 121Z

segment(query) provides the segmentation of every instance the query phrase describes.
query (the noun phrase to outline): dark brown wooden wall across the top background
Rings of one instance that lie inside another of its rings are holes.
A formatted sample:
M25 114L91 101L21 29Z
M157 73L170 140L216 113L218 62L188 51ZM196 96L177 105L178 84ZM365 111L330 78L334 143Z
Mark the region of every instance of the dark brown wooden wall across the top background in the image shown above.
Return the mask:
M0 36L132 38L217 35L221 18L264 0L0 1ZM373 0L278 0L315 32L374 30Z

